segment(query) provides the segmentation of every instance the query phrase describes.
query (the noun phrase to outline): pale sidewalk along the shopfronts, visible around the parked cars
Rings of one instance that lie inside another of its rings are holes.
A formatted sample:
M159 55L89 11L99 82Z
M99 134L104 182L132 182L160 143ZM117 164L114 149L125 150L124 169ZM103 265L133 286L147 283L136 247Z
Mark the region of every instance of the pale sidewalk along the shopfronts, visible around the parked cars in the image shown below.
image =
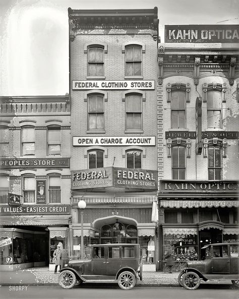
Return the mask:
M179 286L179 272L143 272L143 280L139 286ZM58 285L58 275L48 270L48 267L36 267L19 271L0 271L0 286L2 285ZM204 284L231 284L230 280L207 281Z

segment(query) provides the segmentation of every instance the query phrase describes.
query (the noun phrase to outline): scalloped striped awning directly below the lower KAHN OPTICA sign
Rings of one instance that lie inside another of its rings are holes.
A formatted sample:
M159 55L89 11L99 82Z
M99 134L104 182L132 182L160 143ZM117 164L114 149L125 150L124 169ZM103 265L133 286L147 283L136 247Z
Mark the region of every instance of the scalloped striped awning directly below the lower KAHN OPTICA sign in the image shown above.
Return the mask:
M216 200L159 200L159 206L162 208L231 208L239 207L239 201L216 201Z

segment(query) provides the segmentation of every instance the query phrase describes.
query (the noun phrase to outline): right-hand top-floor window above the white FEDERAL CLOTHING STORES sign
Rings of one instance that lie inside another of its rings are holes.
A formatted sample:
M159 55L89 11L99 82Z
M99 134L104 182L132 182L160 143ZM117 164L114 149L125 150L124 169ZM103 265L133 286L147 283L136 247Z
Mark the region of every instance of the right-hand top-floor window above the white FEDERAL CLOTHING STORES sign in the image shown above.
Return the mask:
M125 48L126 51L126 76L142 75L142 47L130 45Z

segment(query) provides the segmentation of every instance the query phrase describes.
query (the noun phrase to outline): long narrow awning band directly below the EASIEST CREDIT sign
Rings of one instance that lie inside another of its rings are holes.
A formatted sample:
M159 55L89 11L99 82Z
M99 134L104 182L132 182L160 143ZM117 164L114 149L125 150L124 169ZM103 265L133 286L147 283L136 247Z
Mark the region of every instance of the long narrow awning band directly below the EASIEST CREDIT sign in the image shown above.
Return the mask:
M1 215L0 225L68 225L69 218L70 215Z

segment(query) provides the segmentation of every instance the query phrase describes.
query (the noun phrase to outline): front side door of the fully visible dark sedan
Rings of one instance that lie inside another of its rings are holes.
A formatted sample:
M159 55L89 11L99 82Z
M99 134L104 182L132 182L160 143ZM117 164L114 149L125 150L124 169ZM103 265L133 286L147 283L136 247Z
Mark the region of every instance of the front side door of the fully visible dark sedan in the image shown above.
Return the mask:
M93 247L92 270L94 275L106 275L106 252L105 247Z

